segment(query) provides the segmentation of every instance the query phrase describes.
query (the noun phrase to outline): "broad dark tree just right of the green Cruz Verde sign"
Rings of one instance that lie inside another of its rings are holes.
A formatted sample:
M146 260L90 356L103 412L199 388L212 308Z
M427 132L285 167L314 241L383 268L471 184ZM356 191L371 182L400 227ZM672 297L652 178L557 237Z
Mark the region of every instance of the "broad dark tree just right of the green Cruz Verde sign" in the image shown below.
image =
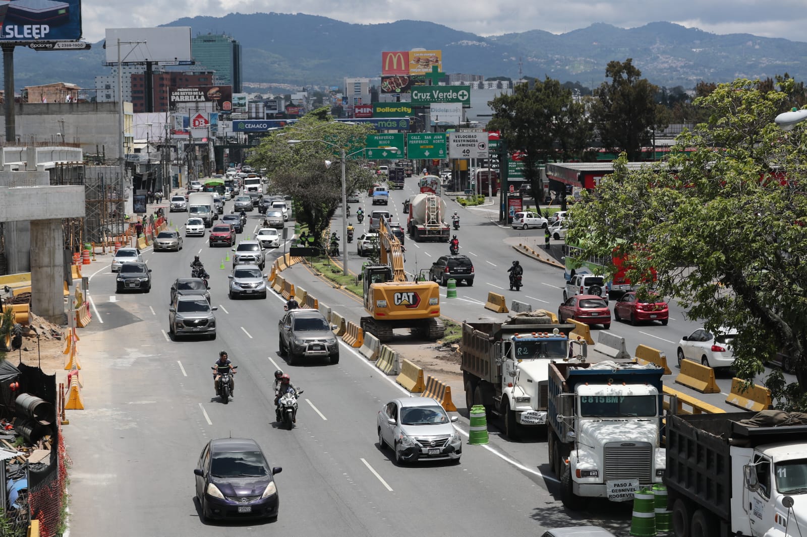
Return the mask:
M587 146L591 127L584 106L575 102L571 90L550 77L535 81L532 89L527 84L516 85L512 95L502 94L489 104L493 118L487 128L501 131L510 151L524 153L525 179L533 192L542 192L541 164L579 159ZM536 196L535 202L538 205L541 197Z

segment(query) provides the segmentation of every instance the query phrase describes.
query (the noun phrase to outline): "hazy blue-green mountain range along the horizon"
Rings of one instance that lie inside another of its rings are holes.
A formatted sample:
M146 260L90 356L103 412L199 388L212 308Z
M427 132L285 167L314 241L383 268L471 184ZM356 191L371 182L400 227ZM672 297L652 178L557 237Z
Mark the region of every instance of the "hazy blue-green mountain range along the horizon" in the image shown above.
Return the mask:
M191 35L226 34L238 40L245 90L250 83L341 86L345 77L378 77L382 51L412 48L441 50L445 73L514 80L521 73L588 87L604 81L608 61L626 58L633 58L642 77L668 88L784 73L807 80L807 43L717 35L673 23L629 29L596 23L560 35L532 30L488 37L424 21L352 24L281 13L184 18L165 26L190 26ZM64 81L94 88L94 77L109 73L102 65L102 44L87 51L18 47L15 87Z

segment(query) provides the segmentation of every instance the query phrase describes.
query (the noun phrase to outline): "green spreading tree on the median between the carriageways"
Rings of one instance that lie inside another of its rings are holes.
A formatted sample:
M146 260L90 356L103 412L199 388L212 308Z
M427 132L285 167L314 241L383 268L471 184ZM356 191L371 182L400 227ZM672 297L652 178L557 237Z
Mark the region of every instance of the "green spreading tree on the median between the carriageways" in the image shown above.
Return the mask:
M342 199L341 153L360 151L373 128L366 123L351 125L333 122L328 109L313 110L297 123L274 131L261 141L249 164L266 168L270 192L290 195L296 219L307 224L318 244ZM316 140L289 144L289 140ZM324 140L324 141L320 141ZM335 144L337 148L332 145ZM333 164L328 166L325 161ZM373 174L358 160L346 160L345 185L348 193L373 184Z

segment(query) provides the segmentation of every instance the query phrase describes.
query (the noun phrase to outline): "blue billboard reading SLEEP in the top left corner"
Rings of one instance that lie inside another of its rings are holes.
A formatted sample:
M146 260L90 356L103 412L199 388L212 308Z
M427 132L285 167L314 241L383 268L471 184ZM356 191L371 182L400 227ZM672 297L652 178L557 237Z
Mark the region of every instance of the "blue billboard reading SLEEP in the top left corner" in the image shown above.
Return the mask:
M2 2L5 11L0 41L76 41L82 38L82 2Z

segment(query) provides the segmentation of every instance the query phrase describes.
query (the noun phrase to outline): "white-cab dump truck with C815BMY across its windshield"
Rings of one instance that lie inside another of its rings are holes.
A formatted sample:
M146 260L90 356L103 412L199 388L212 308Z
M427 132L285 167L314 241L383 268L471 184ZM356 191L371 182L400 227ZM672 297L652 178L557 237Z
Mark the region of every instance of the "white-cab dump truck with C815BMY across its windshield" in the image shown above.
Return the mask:
M546 438L563 505L632 501L636 490L661 483L663 368L604 361L549 369Z

